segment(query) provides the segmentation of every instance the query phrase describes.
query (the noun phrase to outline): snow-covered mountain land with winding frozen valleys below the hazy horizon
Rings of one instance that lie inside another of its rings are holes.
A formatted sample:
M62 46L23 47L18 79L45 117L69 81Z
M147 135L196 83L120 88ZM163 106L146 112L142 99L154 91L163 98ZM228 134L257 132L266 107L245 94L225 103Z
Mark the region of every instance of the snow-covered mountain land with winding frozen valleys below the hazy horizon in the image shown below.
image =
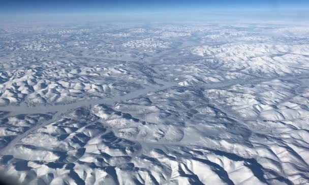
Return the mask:
M22 184L309 184L309 26L0 24Z

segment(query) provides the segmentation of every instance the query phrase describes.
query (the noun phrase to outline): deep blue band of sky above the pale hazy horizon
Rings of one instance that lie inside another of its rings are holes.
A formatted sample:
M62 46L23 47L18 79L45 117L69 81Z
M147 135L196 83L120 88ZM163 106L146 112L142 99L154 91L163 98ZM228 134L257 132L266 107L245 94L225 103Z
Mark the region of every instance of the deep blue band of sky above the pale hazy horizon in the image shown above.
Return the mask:
M112 11L161 11L176 9L290 9L309 6L308 0L6 0L1 1L2 12L112 12Z

